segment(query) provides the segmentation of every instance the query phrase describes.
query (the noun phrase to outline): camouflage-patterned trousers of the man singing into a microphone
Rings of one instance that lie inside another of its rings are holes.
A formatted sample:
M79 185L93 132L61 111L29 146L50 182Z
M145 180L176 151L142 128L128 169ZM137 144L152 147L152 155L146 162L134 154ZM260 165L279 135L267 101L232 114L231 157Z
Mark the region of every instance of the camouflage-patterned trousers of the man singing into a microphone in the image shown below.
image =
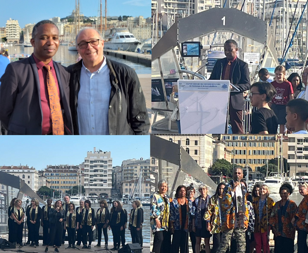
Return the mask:
M231 236L234 234L236 244L237 244L237 253L243 253L246 250L246 240L245 240L245 230L242 228L235 228L226 230L222 232L222 238L220 242L219 249L217 253L225 253L229 248Z

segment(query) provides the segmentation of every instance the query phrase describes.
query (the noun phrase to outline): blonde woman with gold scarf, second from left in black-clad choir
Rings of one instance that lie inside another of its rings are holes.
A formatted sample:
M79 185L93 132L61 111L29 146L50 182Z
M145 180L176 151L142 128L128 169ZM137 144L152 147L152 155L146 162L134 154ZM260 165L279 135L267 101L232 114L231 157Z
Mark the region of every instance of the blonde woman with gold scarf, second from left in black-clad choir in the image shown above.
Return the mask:
M13 223L13 230L14 230L14 237L13 237L13 243L16 245L16 243L20 244L22 246L22 230L23 230L23 219L25 219L25 210L21 207L22 206L22 200L16 199L15 201L15 207L12 212L12 217L14 219Z

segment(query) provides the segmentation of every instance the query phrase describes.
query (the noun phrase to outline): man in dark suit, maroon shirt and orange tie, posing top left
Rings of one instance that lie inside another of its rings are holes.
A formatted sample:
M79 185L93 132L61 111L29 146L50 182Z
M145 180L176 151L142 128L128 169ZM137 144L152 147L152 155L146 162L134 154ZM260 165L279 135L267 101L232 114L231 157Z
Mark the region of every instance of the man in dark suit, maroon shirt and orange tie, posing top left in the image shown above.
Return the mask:
M8 135L72 135L67 68L52 61L59 47L54 22L32 31L33 54L10 63L0 86L0 121Z

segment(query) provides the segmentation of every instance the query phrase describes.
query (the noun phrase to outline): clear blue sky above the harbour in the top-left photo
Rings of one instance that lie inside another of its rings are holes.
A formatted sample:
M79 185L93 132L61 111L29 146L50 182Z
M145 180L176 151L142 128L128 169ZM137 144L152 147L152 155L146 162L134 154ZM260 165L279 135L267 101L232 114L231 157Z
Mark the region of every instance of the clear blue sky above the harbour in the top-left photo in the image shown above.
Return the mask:
M100 0L79 0L80 13L86 17L97 16ZM77 0L78 3L78 0ZM53 17L65 18L75 9L75 0L0 0L0 26L10 18L18 20L21 28L25 24L37 23ZM99 14L100 15L100 14ZM102 0L102 15L105 15L105 1ZM151 0L107 0L107 16L151 17Z

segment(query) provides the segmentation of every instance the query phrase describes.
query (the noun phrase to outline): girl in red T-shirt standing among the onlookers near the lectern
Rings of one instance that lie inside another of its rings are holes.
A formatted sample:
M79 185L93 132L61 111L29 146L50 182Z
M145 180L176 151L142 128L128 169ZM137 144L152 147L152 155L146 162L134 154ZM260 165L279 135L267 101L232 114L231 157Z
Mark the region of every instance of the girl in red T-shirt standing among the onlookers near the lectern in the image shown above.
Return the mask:
M275 81L271 82L277 91L276 96L272 99L271 108L277 116L280 125L279 133L285 133L286 124L286 104L293 99L292 84L285 78L286 69L283 66L275 68Z

